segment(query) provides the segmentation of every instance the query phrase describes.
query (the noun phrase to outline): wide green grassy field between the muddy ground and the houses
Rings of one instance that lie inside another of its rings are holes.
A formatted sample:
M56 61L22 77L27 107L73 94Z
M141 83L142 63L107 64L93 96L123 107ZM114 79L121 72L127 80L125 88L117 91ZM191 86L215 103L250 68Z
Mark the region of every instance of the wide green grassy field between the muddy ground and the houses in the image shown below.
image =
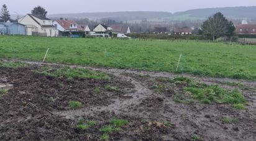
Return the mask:
M179 72L256 80L256 47L165 40L70 39L0 36L0 58ZM106 65L105 65L105 52Z

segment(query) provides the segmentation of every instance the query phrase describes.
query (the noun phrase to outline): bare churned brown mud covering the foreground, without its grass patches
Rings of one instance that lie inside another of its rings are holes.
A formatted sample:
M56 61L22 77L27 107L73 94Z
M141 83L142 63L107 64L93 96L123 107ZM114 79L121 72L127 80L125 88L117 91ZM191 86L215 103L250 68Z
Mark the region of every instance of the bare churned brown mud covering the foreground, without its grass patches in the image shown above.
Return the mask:
M175 102L183 86L165 81L176 76L172 73L89 68L109 73L111 79L66 79L33 71L40 67L0 68L0 83L14 84L0 99L0 140L100 140L99 129L112 118L129 124L109 134L109 140L256 140L255 82L240 80L242 87L237 87L225 82L238 80L185 75L242 91L247 109L237 110L229 104ZM155 91L155 83L164 89ZM119 91L109 91L107 84ZM83 108L70 109L70 100L81 101ZM223 117L238 122L226 123ZM97 124L80 130L76 124L81 119Z

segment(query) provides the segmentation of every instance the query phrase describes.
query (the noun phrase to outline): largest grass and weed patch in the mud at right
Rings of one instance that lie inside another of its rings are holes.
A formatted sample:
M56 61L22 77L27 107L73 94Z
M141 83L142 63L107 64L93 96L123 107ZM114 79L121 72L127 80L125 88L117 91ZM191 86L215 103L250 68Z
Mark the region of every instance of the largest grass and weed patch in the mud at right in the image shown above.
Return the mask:
M227 89L220 88L218 85L198 85L197 87L186 87L185 91L190 91L192 98L198 99L204 104L228 103L232 104L235 109L244 109L246 102L245 97L239 90L235 89L229 91Z

